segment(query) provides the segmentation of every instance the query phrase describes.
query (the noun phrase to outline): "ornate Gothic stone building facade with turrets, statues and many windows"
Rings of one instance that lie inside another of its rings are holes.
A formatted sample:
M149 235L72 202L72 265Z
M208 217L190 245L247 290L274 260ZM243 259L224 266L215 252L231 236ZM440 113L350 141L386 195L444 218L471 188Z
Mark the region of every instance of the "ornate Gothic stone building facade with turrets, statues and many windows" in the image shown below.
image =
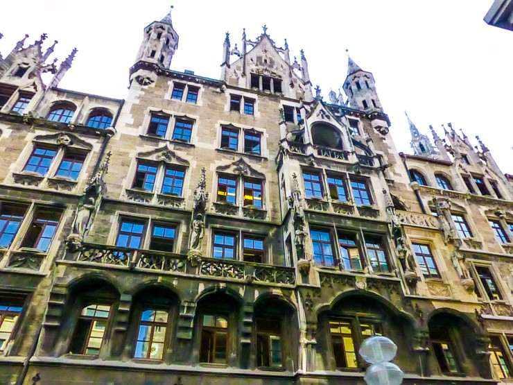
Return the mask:
M513 377L513 178L484 144L399 153L370 72L325 102L265 26L215 80L169 69L166 15L125 100L60 89L76 50L45 39L0 60L1 384L364 384L376 334L405 384Z

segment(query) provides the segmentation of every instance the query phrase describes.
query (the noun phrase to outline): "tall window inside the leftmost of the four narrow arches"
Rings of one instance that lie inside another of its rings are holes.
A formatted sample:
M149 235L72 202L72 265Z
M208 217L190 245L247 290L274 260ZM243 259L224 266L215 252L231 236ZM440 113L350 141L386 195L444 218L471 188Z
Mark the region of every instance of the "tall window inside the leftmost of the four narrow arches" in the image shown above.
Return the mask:
M69 352L98 355L105 337L109 313L109 305L94 304L84 307L78 317Z

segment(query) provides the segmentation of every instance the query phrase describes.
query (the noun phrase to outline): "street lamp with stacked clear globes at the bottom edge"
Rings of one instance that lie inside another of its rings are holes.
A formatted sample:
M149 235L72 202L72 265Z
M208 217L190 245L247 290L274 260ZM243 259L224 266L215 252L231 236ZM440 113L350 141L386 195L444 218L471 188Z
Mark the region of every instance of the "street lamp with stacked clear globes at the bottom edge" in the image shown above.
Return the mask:
M368 385L399 385L403 382L404 373L392 363L397 352L397 345L387 337L374 336L363 341L360 356L372 363L365 371L365 382Z

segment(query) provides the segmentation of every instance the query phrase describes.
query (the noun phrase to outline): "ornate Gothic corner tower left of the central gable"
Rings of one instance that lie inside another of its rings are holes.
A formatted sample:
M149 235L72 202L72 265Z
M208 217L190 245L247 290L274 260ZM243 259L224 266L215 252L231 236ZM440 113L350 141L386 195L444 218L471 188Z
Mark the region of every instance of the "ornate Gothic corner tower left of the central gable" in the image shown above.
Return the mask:
M135 65L130 68L130 81L136 78L138 83L152 83L151 80L155 79L148 70L155 71L157 67L169 69L177 48L178 34L173 28L170 10L160 22L153 22L144 28L144 38L135 58Z

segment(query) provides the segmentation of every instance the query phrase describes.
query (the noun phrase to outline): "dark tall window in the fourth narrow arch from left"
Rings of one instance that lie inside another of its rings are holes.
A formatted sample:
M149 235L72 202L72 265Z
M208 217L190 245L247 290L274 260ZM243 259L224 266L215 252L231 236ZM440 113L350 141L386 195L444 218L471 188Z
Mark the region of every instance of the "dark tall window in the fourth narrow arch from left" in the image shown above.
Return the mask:
M257 319L257 366L281 368L281 325L271 318Z

